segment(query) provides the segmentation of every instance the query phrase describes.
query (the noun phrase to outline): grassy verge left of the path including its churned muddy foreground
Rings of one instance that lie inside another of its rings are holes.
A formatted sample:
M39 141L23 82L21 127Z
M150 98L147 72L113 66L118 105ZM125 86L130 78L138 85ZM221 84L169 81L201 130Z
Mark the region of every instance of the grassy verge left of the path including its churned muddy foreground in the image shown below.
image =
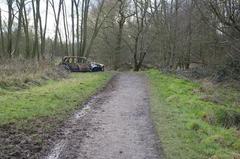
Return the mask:
M37 157L55 129L110 77L79 73L19 91L1 88L0 158Z

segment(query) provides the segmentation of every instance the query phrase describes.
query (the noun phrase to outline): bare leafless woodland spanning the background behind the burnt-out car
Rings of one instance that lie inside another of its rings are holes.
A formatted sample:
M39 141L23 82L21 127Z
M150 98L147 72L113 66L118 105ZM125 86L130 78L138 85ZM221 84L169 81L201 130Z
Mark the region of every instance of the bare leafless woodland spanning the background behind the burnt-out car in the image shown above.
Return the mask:
M0 3L1 61L84 56L115 70L204 68L238 79L238 0Z

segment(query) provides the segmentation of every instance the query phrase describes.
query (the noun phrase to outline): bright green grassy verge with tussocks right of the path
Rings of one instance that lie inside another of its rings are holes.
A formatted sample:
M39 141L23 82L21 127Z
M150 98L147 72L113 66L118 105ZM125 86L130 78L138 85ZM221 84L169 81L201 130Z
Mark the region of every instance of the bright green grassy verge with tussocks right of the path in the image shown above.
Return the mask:
M152 117L167 159L240 158L239 105L207 100L198 83L156 70L147 75Z

